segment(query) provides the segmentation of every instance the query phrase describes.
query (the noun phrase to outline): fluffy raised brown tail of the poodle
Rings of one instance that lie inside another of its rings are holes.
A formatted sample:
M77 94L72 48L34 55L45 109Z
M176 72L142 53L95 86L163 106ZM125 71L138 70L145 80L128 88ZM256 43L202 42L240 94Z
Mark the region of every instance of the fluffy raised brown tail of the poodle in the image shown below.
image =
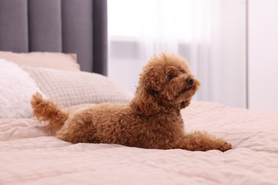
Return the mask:
M61 110L58 105L51 100L44 100L41 94L36 93L31 99L33 115L38 121L48 121L52 134L61 129L64 122L68 120L68 112Z

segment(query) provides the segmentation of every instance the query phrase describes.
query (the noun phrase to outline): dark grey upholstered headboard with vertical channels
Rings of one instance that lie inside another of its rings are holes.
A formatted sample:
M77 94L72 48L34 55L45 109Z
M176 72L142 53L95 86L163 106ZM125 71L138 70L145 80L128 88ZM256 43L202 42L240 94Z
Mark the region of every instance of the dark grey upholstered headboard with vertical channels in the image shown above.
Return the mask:
M77 53L107 75L107 1L0 0L0 51Z

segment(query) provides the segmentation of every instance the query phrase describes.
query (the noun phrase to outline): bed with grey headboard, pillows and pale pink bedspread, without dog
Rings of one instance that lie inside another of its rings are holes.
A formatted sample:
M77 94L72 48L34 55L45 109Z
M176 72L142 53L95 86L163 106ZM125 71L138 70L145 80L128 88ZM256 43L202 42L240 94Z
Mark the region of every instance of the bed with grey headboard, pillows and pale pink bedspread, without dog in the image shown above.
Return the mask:
M224 153L71 144L31 117L37 91L69 111L133 97L105 77L106 8L0 0L0 184L278 184L278 112L193 101L182 110L186 132L226 139Z

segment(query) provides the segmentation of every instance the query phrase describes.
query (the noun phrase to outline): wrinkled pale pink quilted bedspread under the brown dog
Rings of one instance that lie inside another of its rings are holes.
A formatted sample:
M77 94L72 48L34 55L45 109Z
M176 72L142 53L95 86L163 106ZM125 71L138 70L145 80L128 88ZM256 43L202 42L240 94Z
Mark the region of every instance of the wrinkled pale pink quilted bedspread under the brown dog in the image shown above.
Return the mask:
M71 144L32 119L0 120L0 184L278 184L278 114L212 102L182 110L186 132L231 142L222 153Z

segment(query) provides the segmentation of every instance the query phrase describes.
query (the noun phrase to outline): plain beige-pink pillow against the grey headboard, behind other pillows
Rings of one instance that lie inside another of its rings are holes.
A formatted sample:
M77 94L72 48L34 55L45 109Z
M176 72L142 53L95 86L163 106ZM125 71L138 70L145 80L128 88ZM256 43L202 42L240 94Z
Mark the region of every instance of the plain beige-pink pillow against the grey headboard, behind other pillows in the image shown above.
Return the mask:
M74 53L13 53L10 51L0 51L0 58L4 58L19 65L29 65L31 67L80 71L80 66L77 63L76 54Z

